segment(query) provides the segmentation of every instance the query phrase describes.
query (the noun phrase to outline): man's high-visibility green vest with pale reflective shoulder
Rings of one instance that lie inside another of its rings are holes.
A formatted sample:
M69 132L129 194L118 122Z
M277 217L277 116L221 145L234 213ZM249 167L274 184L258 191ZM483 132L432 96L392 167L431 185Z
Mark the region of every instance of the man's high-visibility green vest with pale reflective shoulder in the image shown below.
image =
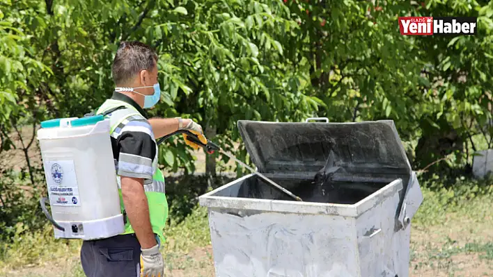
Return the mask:
M111 136L114 135L116 127L128 117L141 116L142 118L145 118L143 117L143 115L140 114L138 110L136 110L136 108L134 108L129 103L115 99L108 99L107 101L105 101L95 113L99 115L112 108L117 108L118 106L125 106L125 112L118 112L123 113L122 116L119 115L118 118L114 118L116 116L106 117L110 119L109 132ZM149 185L144 185L144 190L149 205L149 217L150 225L152 226L152 232L159 236L159 240L161 240L161 242L164 242L165 240L163 230L166 226L166 219L168 219L168 201L166 201L166 194L164 191L164 174L159 168L157 168L157 154L155 159L152 161L152 171L154 172L154 175L152 176L152 183ZM122 235L135 233L125 213L125 206L123 205L122 191L120 186L120 176L117 176L117 179L118 193L120 194L120 207L123 215L125 215L125 232L122 233Z

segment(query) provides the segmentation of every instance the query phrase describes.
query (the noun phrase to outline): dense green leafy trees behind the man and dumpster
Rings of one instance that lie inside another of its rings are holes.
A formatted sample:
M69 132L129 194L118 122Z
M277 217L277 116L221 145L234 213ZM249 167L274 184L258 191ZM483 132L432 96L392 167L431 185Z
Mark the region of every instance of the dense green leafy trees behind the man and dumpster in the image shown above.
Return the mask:
M400 35L397 17L420 15L478 17L478 32ZM423 176L452 177L448 186L469 178L474 153L493 146L492 16L493 2L473 0L0 0L0 157L24 157L21 168L0 163L0 237L19 223L42 227L36 128L111 95L123 40L159 54L162 99L150 114L193 118L244 161L242 144L233 149L238 119L393 119ZM218 158L208 158L208 174ZM160 147L159 162L195 171L178 138ZM174 191L173 213L184 218L203 188Z

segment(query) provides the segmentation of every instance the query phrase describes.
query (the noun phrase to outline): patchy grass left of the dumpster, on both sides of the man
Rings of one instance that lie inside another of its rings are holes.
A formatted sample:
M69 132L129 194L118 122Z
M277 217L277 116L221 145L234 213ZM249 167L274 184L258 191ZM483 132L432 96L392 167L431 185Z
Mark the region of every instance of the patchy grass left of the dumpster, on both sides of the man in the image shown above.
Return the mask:
M22 233L18 226L17 233ZM52 227L46 226L30 235L16 235L13 244L0 255L0 276L45 277L52 268L65 269L56 276L83 277L79 265L78 240L55 240ZM207 210L197 207L196 210L180 224L171 223L166 230L167 242L162 253L168 269L182 270L209 265L212 255L204 253L201 260L188 255L197 247L210 245Z

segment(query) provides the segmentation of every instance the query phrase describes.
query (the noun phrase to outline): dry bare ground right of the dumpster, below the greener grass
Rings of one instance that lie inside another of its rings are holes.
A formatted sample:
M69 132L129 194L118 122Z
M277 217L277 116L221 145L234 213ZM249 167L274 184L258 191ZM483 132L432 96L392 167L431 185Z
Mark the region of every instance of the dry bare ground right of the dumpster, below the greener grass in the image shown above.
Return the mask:
M411 276L493 276L492 207L474 203L471 215L449 213L444 224L413 226Z

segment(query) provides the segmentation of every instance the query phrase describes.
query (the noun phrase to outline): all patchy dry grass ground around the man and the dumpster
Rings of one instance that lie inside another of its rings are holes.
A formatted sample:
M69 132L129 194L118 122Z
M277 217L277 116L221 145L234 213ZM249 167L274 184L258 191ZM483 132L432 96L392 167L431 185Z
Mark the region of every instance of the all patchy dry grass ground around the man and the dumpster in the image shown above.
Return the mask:
M425 200L412 219L411 276L493 276L493 185L475 187L422 187ZM214 276L205 208L172 222L166 237L167 276ZM79 247L79 241L54 240L50 227L17 235L0 252L0 276L83 277Z

